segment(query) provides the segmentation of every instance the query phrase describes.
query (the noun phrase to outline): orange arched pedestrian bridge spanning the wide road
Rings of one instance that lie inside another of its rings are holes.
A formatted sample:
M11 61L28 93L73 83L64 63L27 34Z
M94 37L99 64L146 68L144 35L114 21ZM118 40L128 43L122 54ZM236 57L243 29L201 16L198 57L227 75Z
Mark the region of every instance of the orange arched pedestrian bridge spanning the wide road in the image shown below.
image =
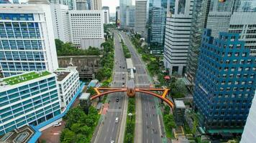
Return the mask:
M134 97L137 92L144 93L144 94L150 94L154 97L157 97L159 99L162 99L164 102L166 102L172 109L174 107L173 102L170 101L170 99L167 98L168 92L170 89L156 89L156 88L140 88L140 87L134 87L134 82L130 80L127 82L127 87L95 87L94 88L96 94L94 94L91 97L91 100L96 99L98 97L104 96L105 94L111 94L115 92L127 92L128 97ZM159 94L161 93L161 94Z

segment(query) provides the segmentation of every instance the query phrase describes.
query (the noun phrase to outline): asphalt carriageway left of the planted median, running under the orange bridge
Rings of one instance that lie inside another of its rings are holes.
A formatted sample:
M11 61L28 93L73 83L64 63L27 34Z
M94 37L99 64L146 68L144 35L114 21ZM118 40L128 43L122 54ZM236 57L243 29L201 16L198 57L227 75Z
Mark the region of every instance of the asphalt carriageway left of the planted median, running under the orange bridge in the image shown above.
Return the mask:
M114 34L115 43L115 65L114 65L114 78L111 87L122 87L122 84L126 82L126 76L122 79L123 74L126 75L126 59L122 51L122 45L119 43L119 36ZM119 128L121 125L122 110L124 107L124 96L126 94L119 92L109 94L109 109L106 115L104 115L104 124L99 129L98 136L96 137L96 143L108 143L111 140L117 142L119 135ZM116 102L116 98L119 98L119 102ZM115 123L116 117L119 118L119 122Z

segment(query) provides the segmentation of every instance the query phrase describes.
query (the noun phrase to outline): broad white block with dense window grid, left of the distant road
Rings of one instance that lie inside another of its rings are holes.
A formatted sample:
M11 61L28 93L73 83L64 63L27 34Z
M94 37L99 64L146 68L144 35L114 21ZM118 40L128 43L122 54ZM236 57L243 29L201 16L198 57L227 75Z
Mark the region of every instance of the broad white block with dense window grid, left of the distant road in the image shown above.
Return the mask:
M69 11L71 41L81 49L101 47L104 42L104 11Z

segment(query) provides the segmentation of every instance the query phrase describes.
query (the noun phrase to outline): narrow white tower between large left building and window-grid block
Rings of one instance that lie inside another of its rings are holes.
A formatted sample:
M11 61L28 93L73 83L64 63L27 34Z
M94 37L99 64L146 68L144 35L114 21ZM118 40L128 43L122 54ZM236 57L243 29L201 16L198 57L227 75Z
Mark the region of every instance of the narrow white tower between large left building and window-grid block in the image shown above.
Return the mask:
M71 41L68 6L63 4L50 4L52 11L52 26L55 39L64 43Z

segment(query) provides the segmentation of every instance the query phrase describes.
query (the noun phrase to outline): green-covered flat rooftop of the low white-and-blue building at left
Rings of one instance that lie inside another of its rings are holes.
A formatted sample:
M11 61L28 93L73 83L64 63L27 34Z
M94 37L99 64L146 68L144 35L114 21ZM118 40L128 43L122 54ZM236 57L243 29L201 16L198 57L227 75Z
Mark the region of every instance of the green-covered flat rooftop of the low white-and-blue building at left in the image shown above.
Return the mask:
M0 84L2 85L15 85L15 84L19 84L22 82L27 82L30 81L32 79L37 79L39 77L45 77L47 75L51 74L49 71L32 71L26 74L19 74L13 77L6 77L4 79L2 79L2 81L0 81Z

